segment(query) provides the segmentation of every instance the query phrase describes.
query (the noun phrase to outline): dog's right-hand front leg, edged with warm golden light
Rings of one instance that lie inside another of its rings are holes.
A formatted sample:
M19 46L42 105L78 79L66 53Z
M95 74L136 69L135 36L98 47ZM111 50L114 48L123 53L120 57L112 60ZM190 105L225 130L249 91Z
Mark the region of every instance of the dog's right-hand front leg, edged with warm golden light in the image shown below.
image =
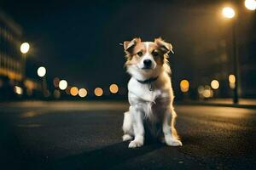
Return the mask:
M174 109L167 109L163 121L163 133L165 135L165 142L167 145L181 146L182 143L180 140L178 140L177 132L174 127L175 118L176 112L174 111Z

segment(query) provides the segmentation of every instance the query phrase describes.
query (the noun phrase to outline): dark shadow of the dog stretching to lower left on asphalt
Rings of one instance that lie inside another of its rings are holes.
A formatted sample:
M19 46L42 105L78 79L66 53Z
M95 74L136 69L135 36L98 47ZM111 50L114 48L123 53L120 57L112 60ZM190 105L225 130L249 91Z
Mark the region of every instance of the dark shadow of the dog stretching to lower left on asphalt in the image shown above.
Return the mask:
M140 148L128 149L128 142L121 142L79 155L67 156L50 164L47 169L105 169L159 150L163 146L164 144L154 142Z

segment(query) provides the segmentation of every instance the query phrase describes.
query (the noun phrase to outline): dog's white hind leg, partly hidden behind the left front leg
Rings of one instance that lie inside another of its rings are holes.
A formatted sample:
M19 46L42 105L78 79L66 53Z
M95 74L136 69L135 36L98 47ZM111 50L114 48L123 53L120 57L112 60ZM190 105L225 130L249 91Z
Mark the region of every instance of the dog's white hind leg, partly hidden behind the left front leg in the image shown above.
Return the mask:
M132 117L129 111L124 113L124 122L123 122L123 141L131 140L133 136L133 129L132 129Z

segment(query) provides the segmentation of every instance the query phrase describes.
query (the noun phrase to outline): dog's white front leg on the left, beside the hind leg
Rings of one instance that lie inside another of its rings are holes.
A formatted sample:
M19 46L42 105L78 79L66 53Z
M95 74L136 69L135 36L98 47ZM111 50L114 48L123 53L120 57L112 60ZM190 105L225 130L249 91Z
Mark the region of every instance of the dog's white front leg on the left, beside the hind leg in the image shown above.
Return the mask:
M144 144L143 110L137 105L131 106L133 116L134 140L129 144L129 148L140 147Z

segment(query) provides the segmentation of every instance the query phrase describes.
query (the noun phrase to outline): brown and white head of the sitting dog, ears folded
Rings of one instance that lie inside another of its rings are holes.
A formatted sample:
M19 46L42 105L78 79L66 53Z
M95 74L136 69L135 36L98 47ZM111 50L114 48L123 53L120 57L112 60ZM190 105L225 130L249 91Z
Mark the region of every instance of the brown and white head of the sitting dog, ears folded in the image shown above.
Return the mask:
M126 67L131 76L139 79L157 77L160 71L168 70L167 57L172 51L172 44L161 38L154 39L154 42L142 42L140 38L124 42L126 54ZM173 52L172 52L173 53Z

